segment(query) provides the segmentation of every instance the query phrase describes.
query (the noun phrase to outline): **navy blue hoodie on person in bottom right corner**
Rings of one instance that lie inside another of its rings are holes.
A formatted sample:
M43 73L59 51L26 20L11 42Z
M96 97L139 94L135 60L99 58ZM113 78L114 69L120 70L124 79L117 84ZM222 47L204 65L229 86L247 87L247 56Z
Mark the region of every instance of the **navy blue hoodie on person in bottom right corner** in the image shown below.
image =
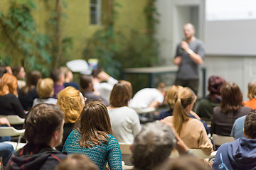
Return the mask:
M218 148L213 162L213 169L255 169L256 140L240 138L231 143L225 143Z

